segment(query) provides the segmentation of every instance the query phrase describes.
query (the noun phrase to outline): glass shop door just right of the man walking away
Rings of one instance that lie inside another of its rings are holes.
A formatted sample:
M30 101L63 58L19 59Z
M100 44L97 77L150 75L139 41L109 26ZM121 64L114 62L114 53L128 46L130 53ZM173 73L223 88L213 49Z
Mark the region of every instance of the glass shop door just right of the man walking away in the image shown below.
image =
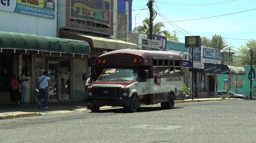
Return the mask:
M49 78L51 84L49 85L49 101L57 101L58 100L58 77L59 77L59 64L58 63L50 63L48 64L49 68Z

